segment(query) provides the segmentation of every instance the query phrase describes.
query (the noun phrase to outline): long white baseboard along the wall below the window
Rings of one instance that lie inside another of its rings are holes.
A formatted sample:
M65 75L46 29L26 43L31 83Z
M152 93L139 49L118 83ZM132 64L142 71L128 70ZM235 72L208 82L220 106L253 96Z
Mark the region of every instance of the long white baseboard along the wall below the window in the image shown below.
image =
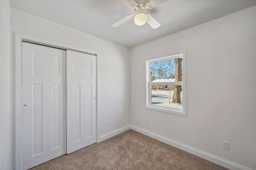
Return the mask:
M171 145L171 146L173 146L173 147L176 147L176 148L178 148L178 149L181 149L181 150L184 150L184 151L189 152L189 153L191 153L191 154L194 154L194 155L196 155L196 156L199 156L200 158L204 158L204 159L206 159L206 160L209 160L210 162L213 162L213 163L215 163L215 164L218 164L218 165L223 166L223 167L225 167L225 168L228 168L228 169L230 169L230 170L252 170L252 169L250 169L250 168L246 168L246 167L244 167L244 166L240 166L240 165L238 165L238 164L235 164L235 163L230 162L230 161L228 161L228 160L224 160L224 159L219 158L219 157L217 157L217 156L214 156L214 155L212 155L212 154L208 154L208 153L203 152L203 151L201 151L201 150L198 150L198 149L189 147L189 146L184 145L184 144L182 144L182 143L178 143L178 142L173 141L173 140L171 140L171 139L168 139L168 138L166 138L166 137L162 137L162 136L160 136L160 135L157 135L157 134L155 134L155 133L152 133L152 132L147 131L147 130L145 130L145 129L142 129L142 128L140 128L140 127L136 127L136 126L134 126L134 125L130 125L130 129L132 129L132 130L134 130L134 131L137 131L137 132L139 132L139 133L142 133L142 134L144 134L144 135L147 135L147 136L149 136L149 137L152 137L152 138L154 138L154 139L156 139L156 140L158 140L158 141L161 141L161 142L163 142L163 143L166 143L166 144Z

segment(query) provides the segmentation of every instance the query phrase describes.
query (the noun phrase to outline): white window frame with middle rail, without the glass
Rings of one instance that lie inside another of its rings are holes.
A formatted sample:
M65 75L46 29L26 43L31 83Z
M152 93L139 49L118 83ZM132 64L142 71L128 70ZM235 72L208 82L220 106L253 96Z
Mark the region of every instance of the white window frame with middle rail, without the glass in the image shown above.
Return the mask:
M183 67L182 67L182 82L151 82L150 80L150 63L156 61L162 61L167 59L176 59L183 58ZM182 86L182 109L176 109L173 107L164 107L164 106L156 106L150 104L151 99L151 85L181 85ZM187 116L186 113L186 51L179 55L172 55L168 57L162 57L159 59L154 59L150 61L146 61L146 109L162 111L166 113L172 113L176 115Z

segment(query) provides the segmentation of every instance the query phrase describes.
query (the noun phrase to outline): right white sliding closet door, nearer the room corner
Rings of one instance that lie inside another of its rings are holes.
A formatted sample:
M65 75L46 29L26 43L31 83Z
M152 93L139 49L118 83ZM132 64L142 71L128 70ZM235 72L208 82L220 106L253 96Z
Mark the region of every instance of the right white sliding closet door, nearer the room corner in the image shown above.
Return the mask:
M96 57L67 50L67 153L96 143Z

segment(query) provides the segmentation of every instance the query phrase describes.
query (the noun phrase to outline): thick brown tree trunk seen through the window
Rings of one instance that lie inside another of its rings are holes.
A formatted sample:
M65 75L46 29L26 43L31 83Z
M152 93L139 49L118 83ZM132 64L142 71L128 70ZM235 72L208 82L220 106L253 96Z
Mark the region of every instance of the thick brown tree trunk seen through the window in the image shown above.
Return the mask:
M181 82L182 81L182 65L181 65L182 59L177 58L174 59L174 65L175 65L175 81ZM174 94L172 98L172 103L181 103L180 100L180 92L181 92L181 86L175 85L174 86Z

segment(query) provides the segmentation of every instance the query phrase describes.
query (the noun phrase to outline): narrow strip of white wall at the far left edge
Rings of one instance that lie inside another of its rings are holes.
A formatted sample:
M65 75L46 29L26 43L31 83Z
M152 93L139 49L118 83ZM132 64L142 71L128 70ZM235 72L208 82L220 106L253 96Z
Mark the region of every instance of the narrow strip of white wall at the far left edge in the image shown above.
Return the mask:
M0 169L10 169L10 4L0 1Z

